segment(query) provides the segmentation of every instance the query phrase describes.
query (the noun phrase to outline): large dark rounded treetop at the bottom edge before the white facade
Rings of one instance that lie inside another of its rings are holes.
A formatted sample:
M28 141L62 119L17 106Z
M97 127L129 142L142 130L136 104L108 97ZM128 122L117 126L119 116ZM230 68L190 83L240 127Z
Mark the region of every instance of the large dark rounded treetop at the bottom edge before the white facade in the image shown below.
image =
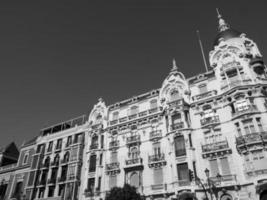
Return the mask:
M125 184L123 188L113 187L105 200L142 200L142 198L135 187Z

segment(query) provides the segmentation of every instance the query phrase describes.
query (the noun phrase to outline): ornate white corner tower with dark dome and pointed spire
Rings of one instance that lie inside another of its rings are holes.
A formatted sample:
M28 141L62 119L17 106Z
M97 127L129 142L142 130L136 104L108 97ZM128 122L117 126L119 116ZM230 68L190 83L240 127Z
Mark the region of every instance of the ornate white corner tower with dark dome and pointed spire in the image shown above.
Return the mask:
M221 91L262 81L266 77L266 68L256 43L244 33L231 28L219 12L218 20L219 32L209 61L220 80Z

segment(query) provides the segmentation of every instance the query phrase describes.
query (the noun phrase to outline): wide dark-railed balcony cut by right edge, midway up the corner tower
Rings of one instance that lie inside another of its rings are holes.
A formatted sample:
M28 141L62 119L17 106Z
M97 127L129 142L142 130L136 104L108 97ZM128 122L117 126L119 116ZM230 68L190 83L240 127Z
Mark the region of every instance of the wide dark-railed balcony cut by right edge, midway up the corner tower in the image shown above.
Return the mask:
M267 143L267 132L256 132L242 135L236 138L236 147L239 153L247 151L250 147L264 147Z

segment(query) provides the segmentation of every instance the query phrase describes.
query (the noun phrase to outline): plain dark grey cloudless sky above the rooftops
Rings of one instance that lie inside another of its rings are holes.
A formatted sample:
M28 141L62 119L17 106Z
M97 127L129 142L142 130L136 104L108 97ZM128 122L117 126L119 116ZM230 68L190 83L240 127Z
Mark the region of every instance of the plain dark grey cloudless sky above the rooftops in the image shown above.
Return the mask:
M215 0L1 1L0 146L160 88L172 59L186 77L205 71L219 8L267 51L267 2Z

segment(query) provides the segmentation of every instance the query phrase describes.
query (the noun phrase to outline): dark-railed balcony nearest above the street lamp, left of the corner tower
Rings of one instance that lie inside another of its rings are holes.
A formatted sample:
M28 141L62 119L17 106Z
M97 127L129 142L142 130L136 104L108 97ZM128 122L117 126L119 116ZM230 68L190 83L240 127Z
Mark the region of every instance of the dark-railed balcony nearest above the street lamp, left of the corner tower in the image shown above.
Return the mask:
M227 140L202 145L203 158L216 156L217 154L222 155L230 153L232 153L232 150L229 148Z

